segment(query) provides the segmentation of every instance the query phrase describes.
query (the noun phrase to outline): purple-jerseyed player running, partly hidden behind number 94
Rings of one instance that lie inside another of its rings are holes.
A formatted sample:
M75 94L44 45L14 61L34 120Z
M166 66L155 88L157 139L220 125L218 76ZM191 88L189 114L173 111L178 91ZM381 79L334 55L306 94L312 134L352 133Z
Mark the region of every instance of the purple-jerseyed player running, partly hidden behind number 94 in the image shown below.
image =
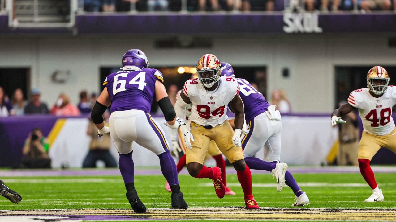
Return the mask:
M221 63L221 75L235 78L234 70L228 63ZM236 78L240 85L239 96L244 102L245 121L249 122L249 127L244 127L246 134L242 139L242 149L244 158L250 169L262 169L272 172L277 179L277 190L282 191L283 186L289 186L296 198L292 205L304 206L309 204L307 194L303 192L293 175L287 171L287 164L280 163L280 131L282 123L279 111L275 110L275 105L270 105L265 100L263 94L255 90L246 80ZM230 105L228 107L231 109ZM230 121L232 123L232 120ZM265 146L264 146L265 145ZM265 160L253 157L260 149L267 149Z

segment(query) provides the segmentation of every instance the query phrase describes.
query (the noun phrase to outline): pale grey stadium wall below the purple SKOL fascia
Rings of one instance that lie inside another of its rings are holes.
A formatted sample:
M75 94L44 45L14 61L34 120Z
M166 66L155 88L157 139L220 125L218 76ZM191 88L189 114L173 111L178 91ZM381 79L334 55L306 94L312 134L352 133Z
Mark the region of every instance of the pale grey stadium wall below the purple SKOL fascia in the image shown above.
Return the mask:
M118 66L131 48L143 50L152 66L195 65L201 55L213 53L234 66L267 66L267 95L285 89L293 111L329 113L335 100L335 66L396 64L396 50L388 47L386 34L212 37L210 49L156 49L154 41L163 36L2 36L0 68L30 67L31 88L40 87L42 100L52 106L60 92L77 103L80 90L98 91L100 67ZM289 68L290 77L282 77L283 68ZM52 82L55 70L70 71L66 83Z

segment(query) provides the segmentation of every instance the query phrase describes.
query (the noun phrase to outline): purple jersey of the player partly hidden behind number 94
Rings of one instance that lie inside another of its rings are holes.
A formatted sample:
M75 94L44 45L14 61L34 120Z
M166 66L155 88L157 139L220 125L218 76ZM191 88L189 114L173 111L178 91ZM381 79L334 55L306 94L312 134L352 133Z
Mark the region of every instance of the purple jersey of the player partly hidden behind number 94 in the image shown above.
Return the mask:
M240 86L239 96L244 102L246 122L268 110L270 104L265 100L261 92L250 85L246 79L237 78L236 81ZM229 104L228 107L230 107Z

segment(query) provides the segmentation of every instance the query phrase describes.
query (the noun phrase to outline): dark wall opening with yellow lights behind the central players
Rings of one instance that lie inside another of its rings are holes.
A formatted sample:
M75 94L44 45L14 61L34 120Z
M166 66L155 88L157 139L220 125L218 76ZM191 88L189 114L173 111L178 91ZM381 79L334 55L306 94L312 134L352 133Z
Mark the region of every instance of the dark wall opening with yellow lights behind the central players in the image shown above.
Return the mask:
M196 75L195 66L150 66L150 68L157 69L161 71L162 75L164 75L164 85L168 91L169 97L173 102L174 99L172 97L176 96L177 91L179 91L185 81L190 79L193 75ZM263 93L266 96L267 91L267 67L265 66L232 66L234 69L235 75L237 78L244 78L254 87ZM100 90L102 90L102 83L106 79L107 75L110 73L120 71L119 67L102 67L100 69ZM154 104L151 107L151 113L161 113L161 110L158 109L158 105L154 101Z

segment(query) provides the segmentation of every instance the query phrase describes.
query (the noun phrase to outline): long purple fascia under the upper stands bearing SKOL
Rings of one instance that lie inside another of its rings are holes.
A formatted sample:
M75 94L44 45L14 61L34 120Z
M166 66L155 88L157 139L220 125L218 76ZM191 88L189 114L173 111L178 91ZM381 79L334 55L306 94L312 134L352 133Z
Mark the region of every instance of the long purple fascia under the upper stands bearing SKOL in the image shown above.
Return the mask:
M216 25L212 24L216 21ZM274 12L241 14L154 15L84 14L76 16L74 34L261 34L261 33L350 33L395 32L396 14L392 12L357 14ZM8 15L0 16L0 33L69 33L67 28L9 28Z

